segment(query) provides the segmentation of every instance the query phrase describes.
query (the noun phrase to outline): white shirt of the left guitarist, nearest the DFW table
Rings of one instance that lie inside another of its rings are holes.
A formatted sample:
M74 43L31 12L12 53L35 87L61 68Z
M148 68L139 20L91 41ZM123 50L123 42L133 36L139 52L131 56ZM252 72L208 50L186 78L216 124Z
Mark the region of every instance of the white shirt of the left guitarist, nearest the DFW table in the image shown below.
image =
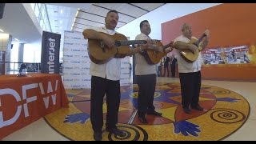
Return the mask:
M114 35L116 33L115 30L107 30L106 26L101 27L93 27L91 28L98 32ZM111 58L110 61L104 64L96 64L94 62L90 62L90 74L93 76L106 78L112 81L120 80L121 75L121 58Z

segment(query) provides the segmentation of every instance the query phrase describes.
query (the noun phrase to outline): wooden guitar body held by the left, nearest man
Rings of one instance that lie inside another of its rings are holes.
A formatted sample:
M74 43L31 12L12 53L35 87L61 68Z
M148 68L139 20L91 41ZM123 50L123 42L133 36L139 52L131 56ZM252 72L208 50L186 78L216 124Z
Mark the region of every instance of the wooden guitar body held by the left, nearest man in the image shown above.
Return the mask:
M106 35L116 41L127 40L126 36L124 36L123 34ZM125 58L129 50L129 46L114 46L108 48L101 40L88 39L88 54L90 60L96 64L106 63L111 58Z

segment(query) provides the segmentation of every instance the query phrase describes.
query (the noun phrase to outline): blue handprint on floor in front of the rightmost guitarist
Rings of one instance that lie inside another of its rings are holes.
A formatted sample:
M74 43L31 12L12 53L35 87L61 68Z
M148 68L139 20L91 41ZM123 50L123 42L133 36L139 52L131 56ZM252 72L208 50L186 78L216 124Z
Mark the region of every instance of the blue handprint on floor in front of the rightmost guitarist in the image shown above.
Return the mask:
M201 132L201 130L198 129L198 125L195 125L191 122L187 121L181 121L181 122L174 122L174 133L179 134L182 133L185 136L188 136L189 134L198 137L197 132Z

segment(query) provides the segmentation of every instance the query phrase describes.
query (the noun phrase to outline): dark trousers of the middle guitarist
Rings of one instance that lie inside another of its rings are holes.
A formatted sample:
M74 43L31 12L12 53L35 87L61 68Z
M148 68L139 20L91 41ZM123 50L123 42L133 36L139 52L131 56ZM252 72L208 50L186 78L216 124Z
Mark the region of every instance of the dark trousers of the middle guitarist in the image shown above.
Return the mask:
M154 111L156 74L136 75L138 82L138 116Z

